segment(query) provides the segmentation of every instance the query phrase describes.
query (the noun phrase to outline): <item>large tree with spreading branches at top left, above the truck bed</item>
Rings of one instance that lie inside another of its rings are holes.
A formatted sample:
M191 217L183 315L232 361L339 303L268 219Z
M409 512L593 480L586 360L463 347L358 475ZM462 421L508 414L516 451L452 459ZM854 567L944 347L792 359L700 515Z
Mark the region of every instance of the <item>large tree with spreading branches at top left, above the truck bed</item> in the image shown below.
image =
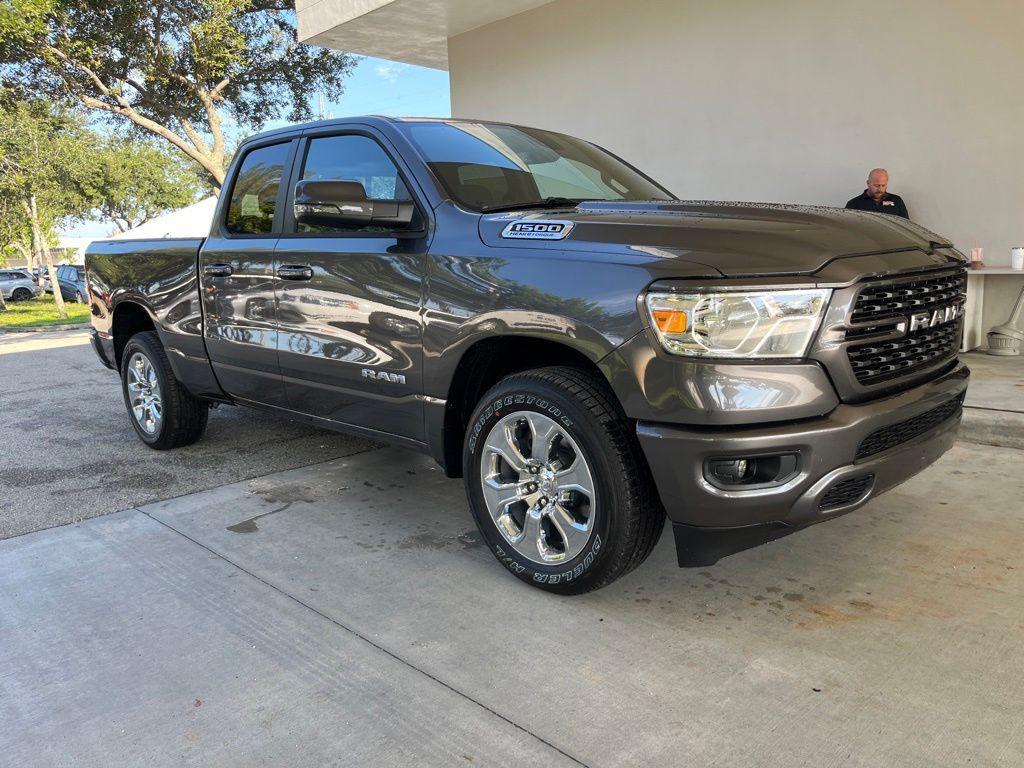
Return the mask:
M225 124L312 116L352 56L300 45L291 0L2 0L0 76L162 137L220 186Z

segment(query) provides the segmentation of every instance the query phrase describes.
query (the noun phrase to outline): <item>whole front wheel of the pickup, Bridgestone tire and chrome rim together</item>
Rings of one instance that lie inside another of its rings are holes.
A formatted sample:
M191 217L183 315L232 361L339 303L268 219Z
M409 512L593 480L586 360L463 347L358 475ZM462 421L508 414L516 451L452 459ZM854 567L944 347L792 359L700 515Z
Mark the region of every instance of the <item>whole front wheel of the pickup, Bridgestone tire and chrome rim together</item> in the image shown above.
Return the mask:
M498 560L560 594L603 587L650 554L665 512L631 422L575 368L513 374L469 421L470 509Z

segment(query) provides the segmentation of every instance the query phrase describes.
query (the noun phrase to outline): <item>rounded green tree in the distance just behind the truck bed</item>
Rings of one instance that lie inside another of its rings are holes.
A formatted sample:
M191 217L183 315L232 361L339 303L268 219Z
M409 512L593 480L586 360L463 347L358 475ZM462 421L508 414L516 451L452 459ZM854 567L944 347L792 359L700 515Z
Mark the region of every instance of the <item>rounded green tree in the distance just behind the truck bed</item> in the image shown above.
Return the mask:
M108 138L96 151L95 171L81 194L93 202L98 218L121 232L191 205L210 187L171 152L152 140Z

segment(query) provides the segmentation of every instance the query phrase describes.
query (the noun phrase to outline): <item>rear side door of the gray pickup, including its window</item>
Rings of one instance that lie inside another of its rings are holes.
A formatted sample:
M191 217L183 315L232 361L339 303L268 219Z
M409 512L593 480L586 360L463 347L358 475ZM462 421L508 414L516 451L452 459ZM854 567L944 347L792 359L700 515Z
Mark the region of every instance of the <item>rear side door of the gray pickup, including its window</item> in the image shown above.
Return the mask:
M279 141L246 153L200 253L206 347L221 387L233 397L278 407L286 402L273 251L295 143Z

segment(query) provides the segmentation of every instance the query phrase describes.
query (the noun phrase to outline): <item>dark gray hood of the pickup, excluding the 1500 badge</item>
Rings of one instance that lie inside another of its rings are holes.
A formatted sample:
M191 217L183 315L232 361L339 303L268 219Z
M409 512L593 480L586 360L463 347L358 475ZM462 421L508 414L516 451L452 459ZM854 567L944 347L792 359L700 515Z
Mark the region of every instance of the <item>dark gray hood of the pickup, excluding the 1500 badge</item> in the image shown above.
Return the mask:
M503 237L513 221L567 221L562 240ZM700 264L727 278L813 273L838 258L952 244L906 219L841 208L760 203L651 201L581 203L480 218L496 248L543 248L656 256Z

